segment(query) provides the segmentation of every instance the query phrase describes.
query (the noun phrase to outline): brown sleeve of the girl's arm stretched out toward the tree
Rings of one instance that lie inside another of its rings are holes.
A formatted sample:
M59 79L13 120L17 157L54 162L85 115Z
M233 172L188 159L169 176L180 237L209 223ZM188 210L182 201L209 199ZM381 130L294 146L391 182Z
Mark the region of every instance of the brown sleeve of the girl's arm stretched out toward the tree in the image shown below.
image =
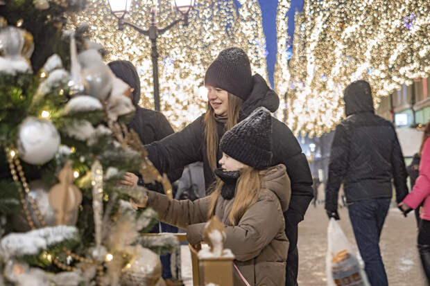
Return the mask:
M167 224L186 229L189 224L207 221L207 213L211 203L211 196L196 199L170 200L166 195L148 191L148 206L158 213L158 219Z

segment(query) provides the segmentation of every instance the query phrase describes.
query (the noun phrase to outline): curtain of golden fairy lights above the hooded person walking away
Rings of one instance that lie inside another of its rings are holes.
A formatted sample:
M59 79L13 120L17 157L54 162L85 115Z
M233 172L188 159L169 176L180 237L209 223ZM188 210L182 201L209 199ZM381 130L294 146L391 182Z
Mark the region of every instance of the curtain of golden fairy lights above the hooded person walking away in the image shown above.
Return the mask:
M427 78L429 26L426 0L305 0L289 69L275 71L284 79L276 87L286 90L284 120L295 134L320 136L343 118L350 82L368 80L378 105L402 84Z

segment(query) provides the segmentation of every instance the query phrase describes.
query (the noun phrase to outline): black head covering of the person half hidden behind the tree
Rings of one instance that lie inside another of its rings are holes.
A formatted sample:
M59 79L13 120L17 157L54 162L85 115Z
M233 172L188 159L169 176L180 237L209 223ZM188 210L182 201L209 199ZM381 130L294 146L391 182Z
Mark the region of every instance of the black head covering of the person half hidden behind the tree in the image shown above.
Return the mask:
M132 102L133 105L137 105L140 100L140 80L135 66L127 60L114 60L107 65L117 78L135 89L133 91Z

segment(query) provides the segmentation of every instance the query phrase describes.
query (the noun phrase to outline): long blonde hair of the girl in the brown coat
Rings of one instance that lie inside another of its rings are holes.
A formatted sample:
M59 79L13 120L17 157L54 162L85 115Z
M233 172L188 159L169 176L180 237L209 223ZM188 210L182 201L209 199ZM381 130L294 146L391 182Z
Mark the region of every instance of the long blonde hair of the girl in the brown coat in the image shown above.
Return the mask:
M216 179L214 186L214 192L211 196L211 205L209 212L207 213L207 220L209 220L215 214L216 201L219 195L221 195L221 189L224 186L224 182L221 179ZM234 201L232 211L228 215L230 224L237 225L241 220L243 214L248 208L257 202L258 194L261 189L261 177L259 171L255 170L250 166L246 166L241 170L241 176L237 179L236 194L234 195Z

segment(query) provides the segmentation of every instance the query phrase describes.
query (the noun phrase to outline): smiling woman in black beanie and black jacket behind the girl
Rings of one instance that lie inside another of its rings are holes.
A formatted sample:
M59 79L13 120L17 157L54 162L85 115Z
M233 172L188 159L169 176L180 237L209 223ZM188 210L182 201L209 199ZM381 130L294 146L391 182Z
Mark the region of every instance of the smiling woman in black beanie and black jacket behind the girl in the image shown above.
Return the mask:
M252 75L248 56L241 48L226 48L219 53L207 68L205 87L208 91L206 113L180 132L145 145L145 148L148 159L162 173L203 161L207 188L215 181L214 170L220 167L222 152L219 141L223 134L258 107L275 112L279 107L279 97L261 75ZM313 182L307 158L289 127L273 118L271 136L273 157L270 166L284 164L291 179L291 203L284 213L286 236L290 242L285 285L295 286L298 276L298 223L303 220L313 199Z

